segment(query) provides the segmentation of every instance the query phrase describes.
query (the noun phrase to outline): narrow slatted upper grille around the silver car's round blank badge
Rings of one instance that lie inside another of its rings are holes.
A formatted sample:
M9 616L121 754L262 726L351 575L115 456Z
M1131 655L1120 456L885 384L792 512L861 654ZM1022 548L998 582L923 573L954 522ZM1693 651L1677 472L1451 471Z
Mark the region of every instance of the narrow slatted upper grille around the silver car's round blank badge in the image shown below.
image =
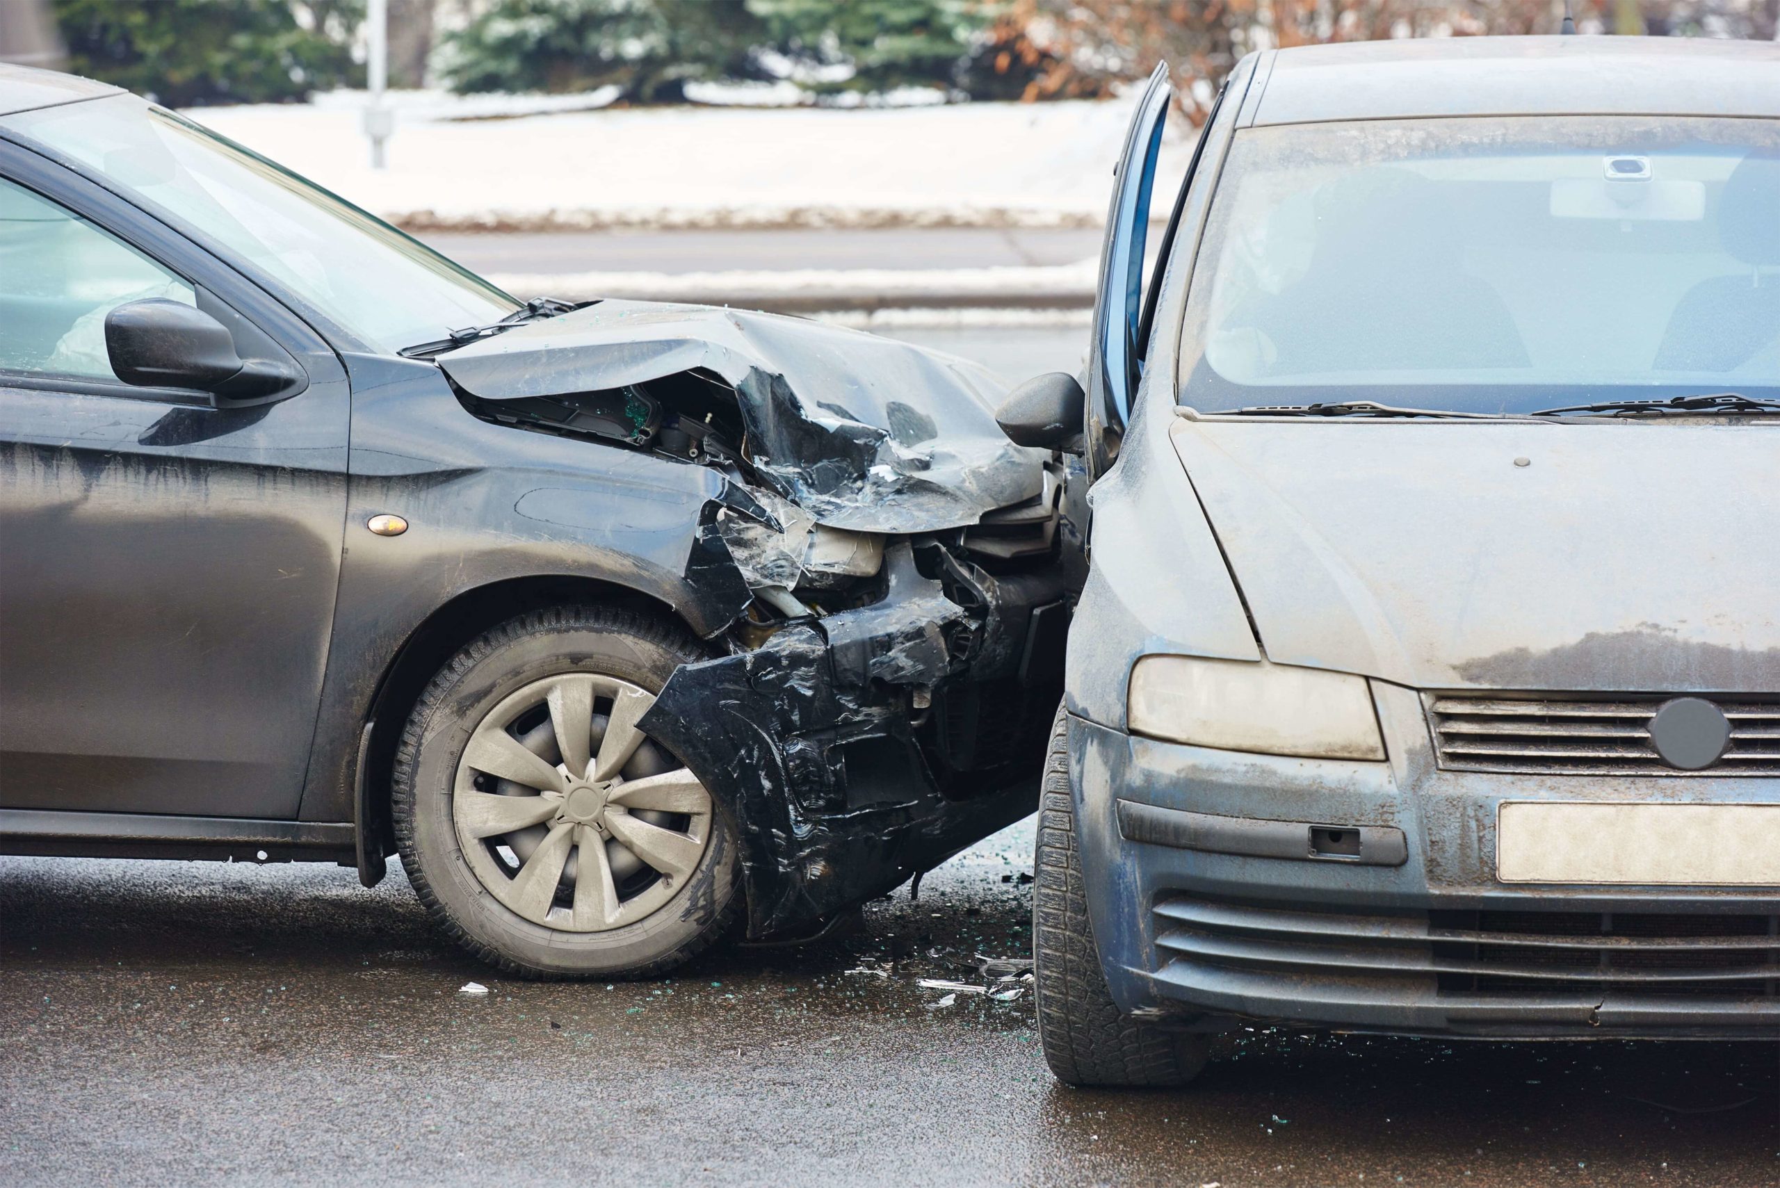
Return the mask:
M1428 717L1440 767L1558 775L1780 775L1780 697L1707 697L1730 720L1712 767L1682 772L1650 743L1668 695L1504 697L1433 694Z

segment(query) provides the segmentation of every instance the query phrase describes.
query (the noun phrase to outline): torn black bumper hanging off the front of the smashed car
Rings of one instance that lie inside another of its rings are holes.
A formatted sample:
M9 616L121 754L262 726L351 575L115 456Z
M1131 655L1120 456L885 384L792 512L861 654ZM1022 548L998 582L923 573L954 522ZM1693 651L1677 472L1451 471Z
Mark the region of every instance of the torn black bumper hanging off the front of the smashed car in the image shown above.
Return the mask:
M883 601L685 665L643 718L735 815L751 937L812 932L1036 807L1064 574L988 580L972 614L906 541L885 566ZM1004 754L977 751L986 701Z

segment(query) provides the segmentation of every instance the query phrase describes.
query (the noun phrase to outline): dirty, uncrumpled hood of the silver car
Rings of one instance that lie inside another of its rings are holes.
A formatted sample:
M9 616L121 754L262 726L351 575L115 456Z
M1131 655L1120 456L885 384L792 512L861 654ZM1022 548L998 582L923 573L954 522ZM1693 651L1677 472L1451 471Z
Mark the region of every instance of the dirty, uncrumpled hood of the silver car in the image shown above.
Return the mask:
M1780 425L1171 434L1278 663L1413 688L1780 692Z

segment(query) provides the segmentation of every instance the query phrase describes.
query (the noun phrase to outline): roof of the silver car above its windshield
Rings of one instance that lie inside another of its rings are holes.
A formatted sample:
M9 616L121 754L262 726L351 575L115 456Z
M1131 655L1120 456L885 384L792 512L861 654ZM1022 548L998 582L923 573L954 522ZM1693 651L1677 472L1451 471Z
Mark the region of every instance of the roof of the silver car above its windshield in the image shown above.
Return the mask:
M1273 50L1242 123L1426 116L1780 117L1780 44L1700 37L1440 37ZM1258 101L1257 101L1258 98Z

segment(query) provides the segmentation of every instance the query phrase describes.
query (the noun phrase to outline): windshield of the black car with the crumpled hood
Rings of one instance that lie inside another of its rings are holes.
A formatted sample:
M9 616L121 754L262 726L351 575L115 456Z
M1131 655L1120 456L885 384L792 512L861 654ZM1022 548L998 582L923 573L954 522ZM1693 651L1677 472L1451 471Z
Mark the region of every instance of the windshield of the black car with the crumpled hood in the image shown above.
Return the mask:
M381 350L498 322L518 302L386 222L134 96L0 117L222 242ZM356 151L344 146L342 151Z

